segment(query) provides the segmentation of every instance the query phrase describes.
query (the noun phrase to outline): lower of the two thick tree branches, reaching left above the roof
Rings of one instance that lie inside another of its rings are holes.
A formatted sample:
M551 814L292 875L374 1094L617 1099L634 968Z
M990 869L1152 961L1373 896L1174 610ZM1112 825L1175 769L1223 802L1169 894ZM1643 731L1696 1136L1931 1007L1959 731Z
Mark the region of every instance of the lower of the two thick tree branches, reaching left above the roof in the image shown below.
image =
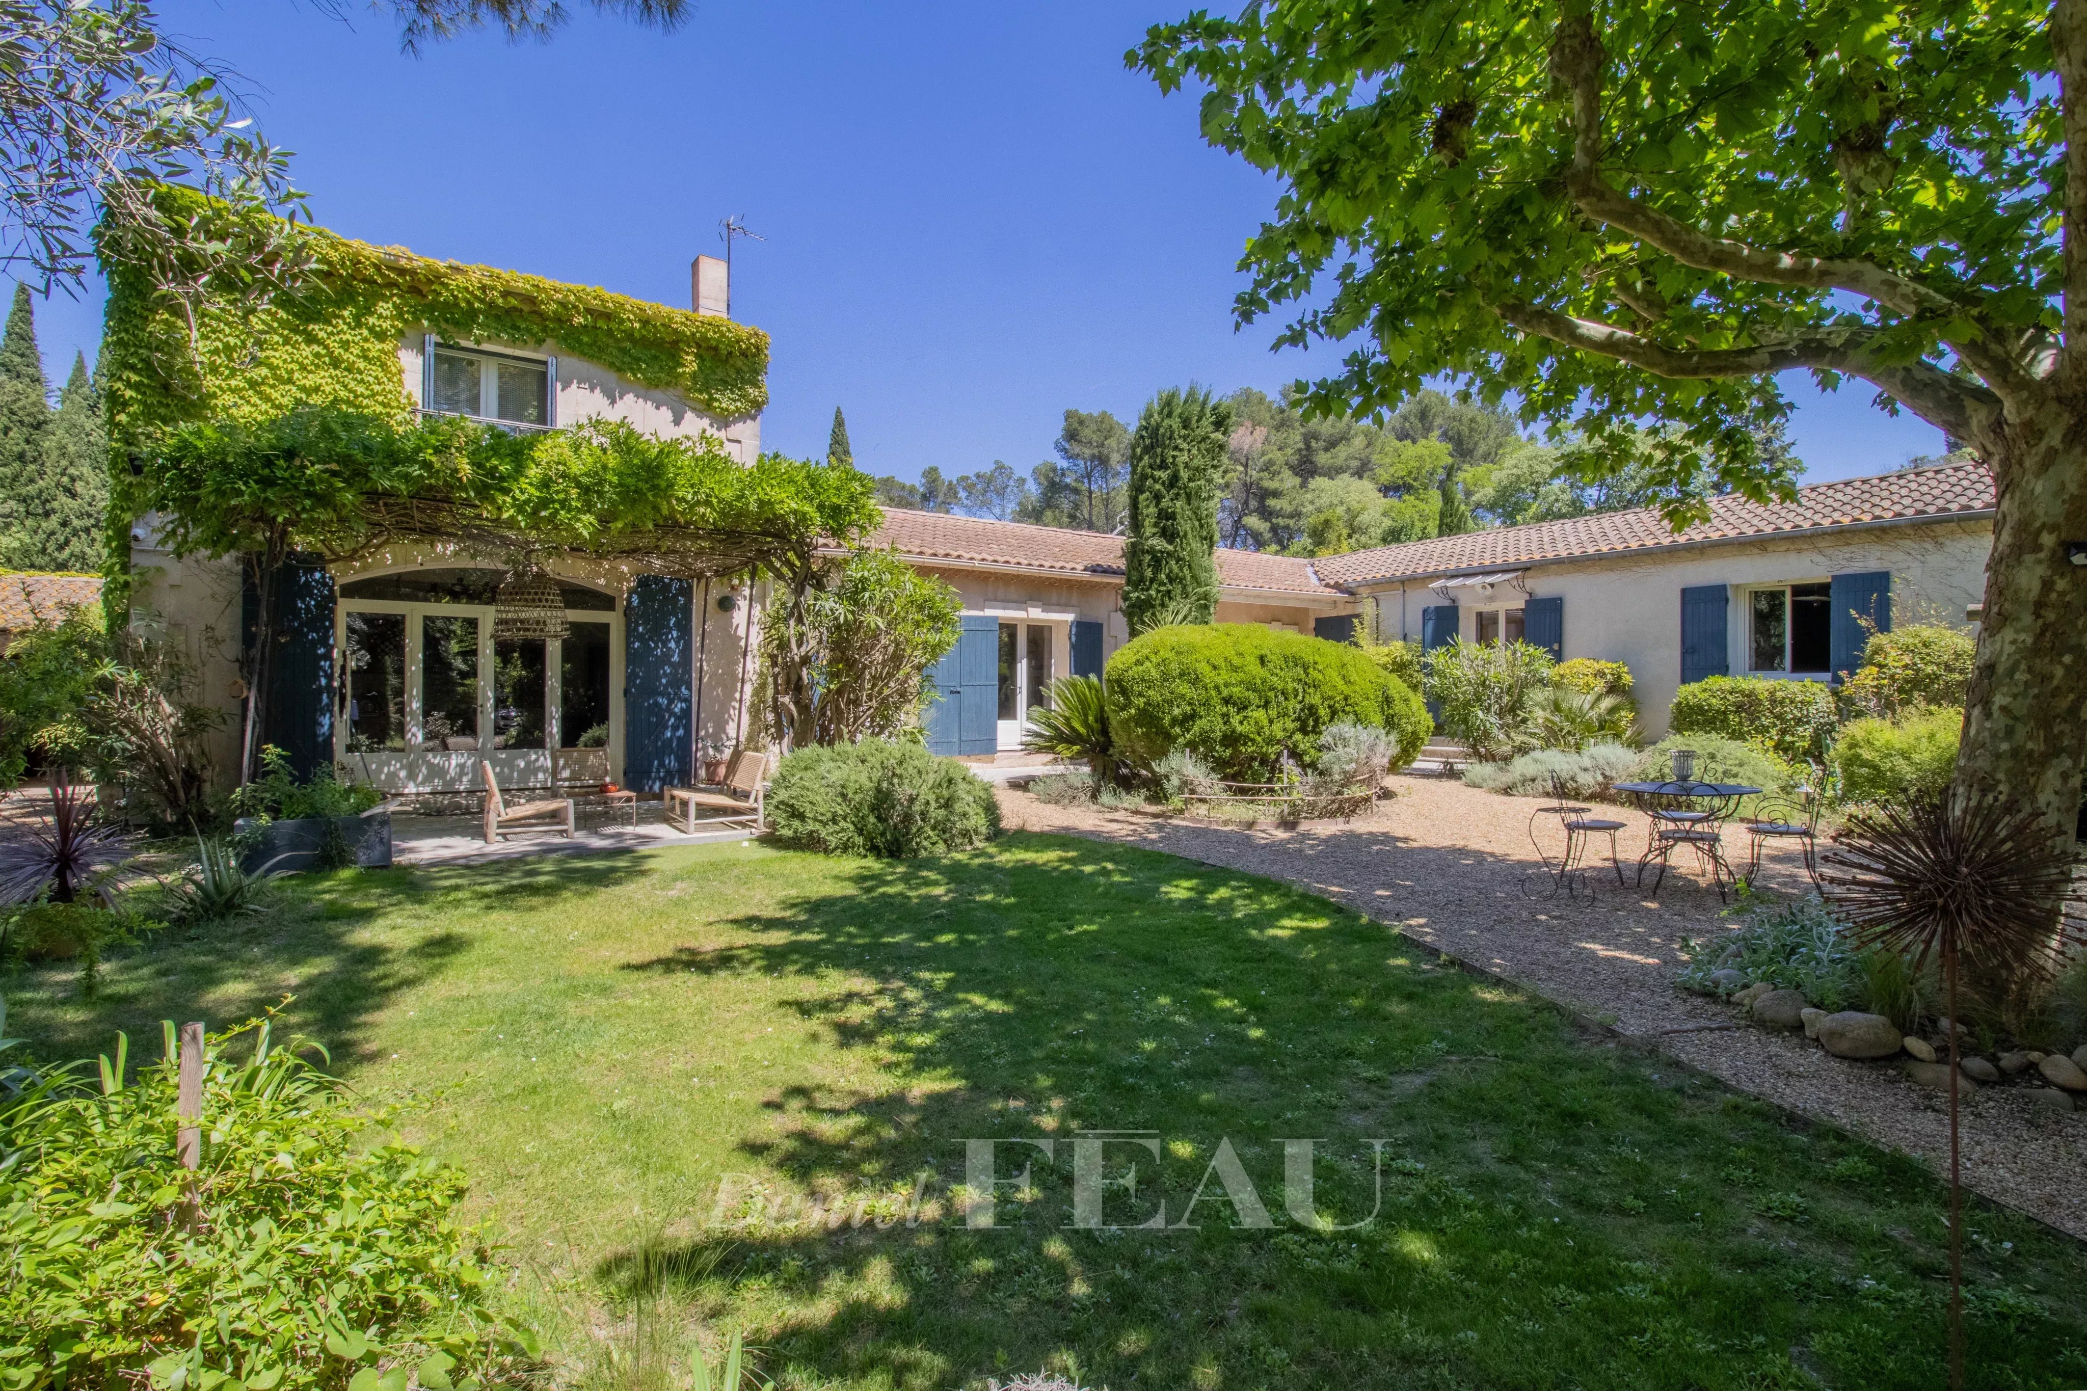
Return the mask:
M1567 348L1630 363L1672 380L1757 377L1793 367L1847 373L1889 392L1914 415L1960 440L1985 438L2001 409L1999 396L1991 390L1953 377L1930 363L1885 365L1872 361L1874 334L1864 327L1826 327L1803 338L1753 348L1670 348L1613 323L1576 319L1517 300L1494 304L1492 313L1524 334L1536 334Z

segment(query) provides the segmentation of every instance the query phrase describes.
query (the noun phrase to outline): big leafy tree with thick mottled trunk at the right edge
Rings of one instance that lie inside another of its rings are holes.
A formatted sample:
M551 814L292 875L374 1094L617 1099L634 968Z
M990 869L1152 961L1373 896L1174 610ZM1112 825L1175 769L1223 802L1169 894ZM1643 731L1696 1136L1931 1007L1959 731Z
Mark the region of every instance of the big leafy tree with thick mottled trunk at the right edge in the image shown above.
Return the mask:
M2070 836L2087 755L2087 0L1269 0L1127 54L1284 179L1242 321L1590 436L1674 421L1670 517L1757 448L1778 373L1864 382L1997 486L1958 786Z

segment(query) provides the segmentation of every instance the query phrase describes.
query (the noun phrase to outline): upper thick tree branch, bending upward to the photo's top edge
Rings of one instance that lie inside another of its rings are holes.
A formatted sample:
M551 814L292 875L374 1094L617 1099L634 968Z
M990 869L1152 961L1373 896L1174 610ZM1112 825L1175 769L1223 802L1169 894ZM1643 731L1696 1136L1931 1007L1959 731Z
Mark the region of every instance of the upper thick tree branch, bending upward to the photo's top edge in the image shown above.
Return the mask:
M2087 0L2060 0L2060 10L2064 8L2087 8ZM1601 175L1601 69L1605 60L1601 38L1594 33L1592 0L1565 0L1559 31L1551 44L1551 75L1572 100L1574 152L1565 171L1565 188L1582 213L1699 271L1801 290L1845 290L1901 315L1981 319L1974 304L1962 304L1941 290L1870 261L1803 257L1709 236L1611 186ZM2068 144L2068 161L2072 158L2070 150ZM2087 184L2087 169L2081 177ZM2087 198L2087 190L2081 190L2079 196ZM2072 302L2070 294L2066 302ZM2087 313L2087 302L2081 311ZM2029 392L2035 388L2035 380L1991 334L1949 346L1997 390Z

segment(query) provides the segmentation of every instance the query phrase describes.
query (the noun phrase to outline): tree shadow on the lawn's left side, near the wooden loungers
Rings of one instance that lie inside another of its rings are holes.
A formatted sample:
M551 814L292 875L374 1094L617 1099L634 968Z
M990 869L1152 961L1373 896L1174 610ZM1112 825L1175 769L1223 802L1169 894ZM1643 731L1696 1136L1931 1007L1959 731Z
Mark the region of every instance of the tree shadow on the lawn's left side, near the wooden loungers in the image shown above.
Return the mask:
M94 999L73 961L23 970L6 982L8 1032L38 1057L69 1061L131 1036L157 1061L161 1020L213 1030L284 1009L275 1036L323 1043L336 1066L369 1051L369 1020L392 999L440 976L488 930L484 909L530 909L584 899L651 874L639 855L543 855L486 865L338 870L286 876L261 913L202 928L169 928L109 955Z

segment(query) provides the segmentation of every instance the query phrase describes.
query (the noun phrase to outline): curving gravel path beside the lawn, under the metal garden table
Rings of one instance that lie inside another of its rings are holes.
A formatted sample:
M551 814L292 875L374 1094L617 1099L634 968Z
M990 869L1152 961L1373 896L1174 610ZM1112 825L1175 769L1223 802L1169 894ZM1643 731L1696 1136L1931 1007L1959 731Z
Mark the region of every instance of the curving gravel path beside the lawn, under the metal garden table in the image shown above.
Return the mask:
M1703 1072L1878 1145L1949 1166L1947 1097L1905 1080L1895 1061L1832 1057L1801 1032L1730 1028L1738 1014L1674 986L1676 943L1722 924L1718 895L1676 857L1659 899L1617 888L1597 899L1530 901L1530 815L1542 801L1480 792L1440 778L1392 778L1394 801L1338 830L1229 830L1133 811L1054 807L1002 790L1008 828L1142 845L1300 884L1463 961L1613 1024ZM1645 817L1617 836L1624 868L1645 847ZM1549 832L1549 834L1546 834ZM1563 838L1538 826L1546 849ZM1728 847L1743 847L1734 830ZM1741 849L1743 853L1743 849ZM1607 865L1603 865L1607 870ZM1809 884L1795 853L1772 855L1764 886ZM2039 1107L2010 1091L1968 1101L1964 1176L1978 1193L2087 1239L2087 1116Z

